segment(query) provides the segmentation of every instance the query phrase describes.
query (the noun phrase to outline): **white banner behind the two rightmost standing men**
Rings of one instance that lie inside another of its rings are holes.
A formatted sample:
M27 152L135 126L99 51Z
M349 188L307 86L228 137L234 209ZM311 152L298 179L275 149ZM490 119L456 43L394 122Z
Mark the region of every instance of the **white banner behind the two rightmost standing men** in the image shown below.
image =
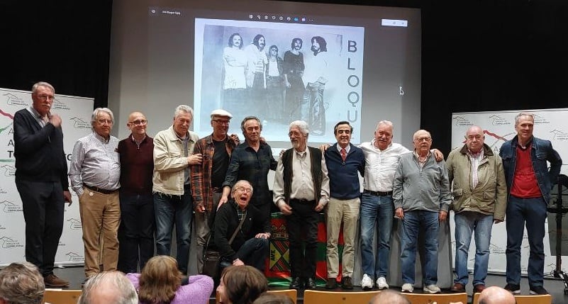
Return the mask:
M469 127L478 125L484 130L485 143L491 147L494 152L499 154L501 145L506 140L511 140L516 135L515 116L521 111L495 111L495 112L477 112L477 113L453 113L452 114L452 147L462 147L465 143L464 135ZM533 135L544 140L550 140L552 147L557 150L562 157L562 174L568 175L568 108L563 109L546 109L546 110L527 110L523 112L533 113L535 116L535 128ZM435 135L433 135L435 137ZM557 187L552 191L552 197L555 198ZM566 200L564 193L564 200ZM564 201L564 206L568 202ZM450 215L450 225L452 232L455 231L455 223L453 213ZM505 218L505 220L507 220ZM565 222L565 221L564 221ZM523 229L524 227L519 227ZM556 267L556 257L551 255L550 239L556 240L556 220L555 215L547 218L545 226L545 274L550 274ZM564 226L562 231L562 246L566 246L568 240L568 227ZM489 257L489 271L505 273L506 271L506 255L505 249L507 245L507 231L505 223L493 226L491 233L491 255ZM455 235L452 234L452 252L455 257ZM520 268L523 274L526 274L528 266L528 256L530 249L525 229L523 244L520 247ZM475 259L475 241L472 237L472 244L469 247L468 268L473 269ZM568 270L568 257L562 257L562 270Z

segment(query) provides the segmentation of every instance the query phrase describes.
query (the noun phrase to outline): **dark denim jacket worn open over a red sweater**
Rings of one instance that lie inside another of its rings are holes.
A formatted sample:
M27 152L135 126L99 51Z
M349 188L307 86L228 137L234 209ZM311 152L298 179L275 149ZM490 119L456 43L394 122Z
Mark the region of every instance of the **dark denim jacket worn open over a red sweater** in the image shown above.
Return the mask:
M512 140L504 142L499 151L499 156L503 159L508 196L511 195L513 176L515 176L517 144L518 136L515 136ZM530 144L530 159L533 162L533 170L542 198L548 203L550 201L550 189L556 184L560 167L562 167L562 159L558 152L552 148L550 140L541 140L534 136ZM550 169L548 169L547 162L550 162Z

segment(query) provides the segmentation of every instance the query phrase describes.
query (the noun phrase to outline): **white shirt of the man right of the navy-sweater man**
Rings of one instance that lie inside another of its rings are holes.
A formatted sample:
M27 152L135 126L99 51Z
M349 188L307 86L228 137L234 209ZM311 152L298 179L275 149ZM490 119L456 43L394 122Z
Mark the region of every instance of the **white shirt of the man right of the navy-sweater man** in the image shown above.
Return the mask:
M363 142L359 147L365 156L363 188L369 191L392 191L394 172L402 154L410 152L400 144L391 142L385 150L374 146L375 140Z

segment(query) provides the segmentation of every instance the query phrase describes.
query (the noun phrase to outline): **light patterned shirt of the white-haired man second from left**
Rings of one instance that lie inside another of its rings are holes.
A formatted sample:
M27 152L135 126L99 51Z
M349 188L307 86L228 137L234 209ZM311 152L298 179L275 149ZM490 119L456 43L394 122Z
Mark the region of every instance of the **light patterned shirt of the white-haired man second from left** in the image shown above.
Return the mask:
M83 184L110 191L121 187L121 162L117 149L118 138L112 135L106 140L93 132L75 142L69 179L77 196L83 194Z

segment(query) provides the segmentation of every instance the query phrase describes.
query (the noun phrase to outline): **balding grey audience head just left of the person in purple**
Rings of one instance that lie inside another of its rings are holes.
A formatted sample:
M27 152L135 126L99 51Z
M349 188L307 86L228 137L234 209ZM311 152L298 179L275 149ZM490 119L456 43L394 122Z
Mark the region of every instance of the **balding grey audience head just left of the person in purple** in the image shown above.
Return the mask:
M89 278L77 304L138 304L132 283L120 271L104 271Z

